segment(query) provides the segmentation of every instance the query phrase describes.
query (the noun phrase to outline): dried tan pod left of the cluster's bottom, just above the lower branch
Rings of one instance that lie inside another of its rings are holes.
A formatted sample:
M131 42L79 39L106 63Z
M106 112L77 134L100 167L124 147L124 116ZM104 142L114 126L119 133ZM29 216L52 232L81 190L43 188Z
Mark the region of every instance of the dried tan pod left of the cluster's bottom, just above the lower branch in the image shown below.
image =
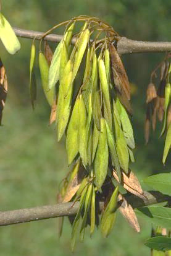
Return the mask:
M77 193L78 188L80 187L81 181L83 180L85 175L86 175L85 168L83 166L80 166L77 174L75 174L73 179L69 182L69 185L65 192L65 196L64 196L64 199L62 200L62 203L67 203L73 198L75 193Z

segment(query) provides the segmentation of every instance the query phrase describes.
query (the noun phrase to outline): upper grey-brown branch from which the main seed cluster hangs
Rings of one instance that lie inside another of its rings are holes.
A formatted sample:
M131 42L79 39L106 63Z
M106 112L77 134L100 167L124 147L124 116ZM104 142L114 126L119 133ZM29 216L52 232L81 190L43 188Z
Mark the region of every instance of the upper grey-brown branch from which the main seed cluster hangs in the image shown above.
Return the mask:
M35 38L40 40L43 32L25 30L14 28L15 34L17 37L24 38ZM50 42L60 42L62 35L50 34L44 37L44 40ZM75 43L75 39L72 40L72 44ZM120 37L119 42L117 43L117 51L120 55L126 53L148 53L148 52L162 52L162 51L171 51L171 42L144 42L131 40L126 37Z

